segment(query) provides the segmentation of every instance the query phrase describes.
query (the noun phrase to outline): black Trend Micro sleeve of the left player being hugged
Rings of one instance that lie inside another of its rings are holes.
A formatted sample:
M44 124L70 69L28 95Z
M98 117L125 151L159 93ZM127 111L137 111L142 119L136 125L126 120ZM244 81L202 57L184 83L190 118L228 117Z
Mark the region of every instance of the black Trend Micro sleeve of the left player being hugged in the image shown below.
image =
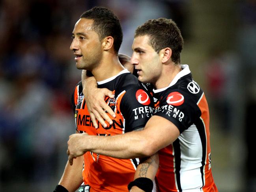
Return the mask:
M145 127L153 114L153 99L140 86L128 89L121 99L120 111L125 119L125 132Z

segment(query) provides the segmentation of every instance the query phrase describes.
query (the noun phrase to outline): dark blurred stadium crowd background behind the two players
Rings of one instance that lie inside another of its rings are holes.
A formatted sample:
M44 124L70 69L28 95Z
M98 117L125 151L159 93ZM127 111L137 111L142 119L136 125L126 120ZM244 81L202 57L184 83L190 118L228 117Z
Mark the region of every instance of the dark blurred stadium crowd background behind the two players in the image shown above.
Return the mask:
M71 94L81 78L69 50L73 26L93 6L123 27L120 53L148 19L173 19L181 63L206 93L212 169L220 192L256 191L256 0L0 1L0 191L49 192L75 132Z

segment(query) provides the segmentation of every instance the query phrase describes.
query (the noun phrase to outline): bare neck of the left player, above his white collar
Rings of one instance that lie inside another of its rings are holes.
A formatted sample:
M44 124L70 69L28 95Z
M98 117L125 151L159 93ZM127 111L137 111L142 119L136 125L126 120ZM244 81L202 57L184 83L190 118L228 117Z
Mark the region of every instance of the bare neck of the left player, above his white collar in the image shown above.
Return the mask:
M97 81L103 81L107 78L117 75L125 69L118 60L118 56L114 53L103 53L102 60L92 69L92 75Z

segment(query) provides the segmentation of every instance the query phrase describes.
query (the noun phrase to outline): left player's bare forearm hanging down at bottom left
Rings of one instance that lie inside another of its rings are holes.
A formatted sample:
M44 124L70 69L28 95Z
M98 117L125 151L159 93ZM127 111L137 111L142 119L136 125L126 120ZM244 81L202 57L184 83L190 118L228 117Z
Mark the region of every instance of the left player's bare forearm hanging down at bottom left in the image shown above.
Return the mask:
M83 156L75 158L72 166L67 162L59 185L64 186L69 192L77 190L83 182L82 169Z

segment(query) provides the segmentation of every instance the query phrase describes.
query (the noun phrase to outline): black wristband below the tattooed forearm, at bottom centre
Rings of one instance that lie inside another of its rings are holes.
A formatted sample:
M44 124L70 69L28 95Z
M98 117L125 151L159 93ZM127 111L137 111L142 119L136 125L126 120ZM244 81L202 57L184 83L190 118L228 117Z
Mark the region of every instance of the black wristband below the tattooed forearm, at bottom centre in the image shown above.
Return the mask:
M153 181L147 177L139 177L129 183L128 190L130 191L133 186L144 190L145 192L152 192L153 190Z

